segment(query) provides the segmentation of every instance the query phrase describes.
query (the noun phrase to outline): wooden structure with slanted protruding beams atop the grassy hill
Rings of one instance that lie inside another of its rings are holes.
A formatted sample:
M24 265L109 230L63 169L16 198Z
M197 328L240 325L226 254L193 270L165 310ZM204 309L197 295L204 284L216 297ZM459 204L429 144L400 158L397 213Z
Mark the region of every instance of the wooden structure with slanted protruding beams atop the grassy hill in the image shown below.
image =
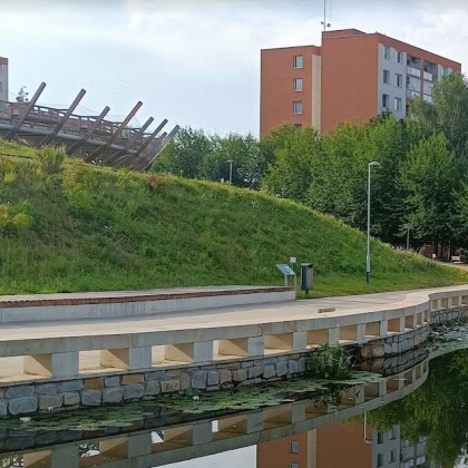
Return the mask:
M138 101L123 121L106 120L110 108L105 107L98 116L74 114L86 94L81 89L67 109L37 104L46 88L42 82L31 100L9 103L0 100L0 137L26 142L28 145L66 147L67 154L113 168L127 167L145 170L175 137L179 127L163 131L164 119L153 131L150 117L140 128L129 126L142 103Z

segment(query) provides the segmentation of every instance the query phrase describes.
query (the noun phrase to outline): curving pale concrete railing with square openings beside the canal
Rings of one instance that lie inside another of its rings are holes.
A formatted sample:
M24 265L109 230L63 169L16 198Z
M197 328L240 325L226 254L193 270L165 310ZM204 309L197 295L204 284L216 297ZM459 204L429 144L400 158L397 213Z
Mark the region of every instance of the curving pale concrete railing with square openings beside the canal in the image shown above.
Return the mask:
M430 311L468 306L468 290L417 292L391 306L365 311L311 313L276 322L211 325L144 332L82 332L65 324L62 333L11 337L0 342L0 358L22 357L21 381L66 380L89 373L84 357L98 352L94 374L142 372L167 367L202 365L244 358L303 352L321 344L365 343L428 326ZM16 331L18 332L18 328ZM32 334L31 334L32 333ZM1 360L1 359L0 359ZM10 380L4 384L18 384Z

